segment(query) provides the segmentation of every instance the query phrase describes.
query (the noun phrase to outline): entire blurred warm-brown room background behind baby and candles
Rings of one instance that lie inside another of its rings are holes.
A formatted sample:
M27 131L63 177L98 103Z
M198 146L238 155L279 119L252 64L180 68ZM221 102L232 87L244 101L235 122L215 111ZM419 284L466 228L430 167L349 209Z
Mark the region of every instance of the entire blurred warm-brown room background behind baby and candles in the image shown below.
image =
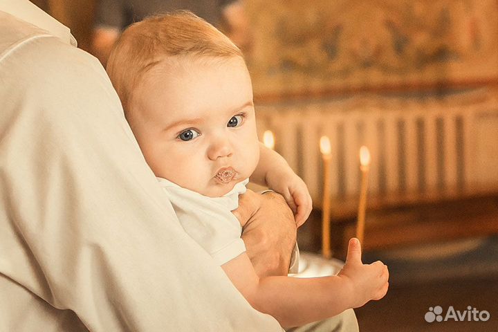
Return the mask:
M259 137L271 131L313 197L302 250L322 255L327 237L344 259L369 149L364 257L385 261L391 288L356 310L361 330L497 331L497 0L33 2L102 64L151 13L190 9L219 27L246 55ZM490 319L426 322L438 305Z

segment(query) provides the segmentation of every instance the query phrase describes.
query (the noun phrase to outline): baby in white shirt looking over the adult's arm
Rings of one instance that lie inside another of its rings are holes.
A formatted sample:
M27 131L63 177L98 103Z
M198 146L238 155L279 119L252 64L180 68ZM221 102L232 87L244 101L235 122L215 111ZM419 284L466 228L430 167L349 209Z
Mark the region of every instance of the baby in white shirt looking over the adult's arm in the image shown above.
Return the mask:
M189 12L151 17L124 31L107 71L185 232L255 309L282 326L301 326L385 295L387 267L362 264L356 239L339 275L255 273L240 238L243 225L231 213L248 178L281 193L297 225L311 199L283 158L258 142L250 75L228 37Z

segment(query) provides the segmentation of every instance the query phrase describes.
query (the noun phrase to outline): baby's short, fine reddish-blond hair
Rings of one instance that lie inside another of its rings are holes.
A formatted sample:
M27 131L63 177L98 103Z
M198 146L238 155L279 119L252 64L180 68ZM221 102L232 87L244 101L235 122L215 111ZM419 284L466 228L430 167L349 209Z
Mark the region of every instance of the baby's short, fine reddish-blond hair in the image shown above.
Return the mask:
M118 92L124 113L142 76L167 58L226 59L241 50L206 22L187 10L148 17L124 30L116 42L107 73Z

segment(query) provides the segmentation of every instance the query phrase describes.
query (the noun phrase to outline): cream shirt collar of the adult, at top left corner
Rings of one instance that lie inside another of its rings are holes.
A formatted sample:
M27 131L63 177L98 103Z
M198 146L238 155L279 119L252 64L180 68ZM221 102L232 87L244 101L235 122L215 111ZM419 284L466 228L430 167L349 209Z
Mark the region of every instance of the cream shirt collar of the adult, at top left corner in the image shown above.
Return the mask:
M77 45L76 39L71 35L71 30L68 27L28 0L1 0L0 10L47 30L51 35L59 37L68 44Z

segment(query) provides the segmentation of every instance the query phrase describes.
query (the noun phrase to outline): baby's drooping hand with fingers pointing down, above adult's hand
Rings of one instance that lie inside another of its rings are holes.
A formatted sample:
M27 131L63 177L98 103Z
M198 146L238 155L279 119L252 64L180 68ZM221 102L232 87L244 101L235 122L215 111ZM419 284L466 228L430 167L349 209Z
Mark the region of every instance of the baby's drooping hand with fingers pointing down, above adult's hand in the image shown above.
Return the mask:
M306 183L297 176L290 166L275 167L266 174L266 184L286 200L293 210L297 227L302 225L313 208Z

